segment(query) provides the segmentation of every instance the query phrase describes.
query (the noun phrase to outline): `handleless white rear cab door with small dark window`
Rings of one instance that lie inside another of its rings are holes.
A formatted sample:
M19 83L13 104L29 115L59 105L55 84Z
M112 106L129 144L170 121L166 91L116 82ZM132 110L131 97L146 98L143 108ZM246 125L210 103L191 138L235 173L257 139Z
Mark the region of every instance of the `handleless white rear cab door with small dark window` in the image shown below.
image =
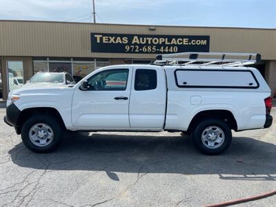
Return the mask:
M166 76L160 66L135 66L130 95L130 128L161 130L166 112Z

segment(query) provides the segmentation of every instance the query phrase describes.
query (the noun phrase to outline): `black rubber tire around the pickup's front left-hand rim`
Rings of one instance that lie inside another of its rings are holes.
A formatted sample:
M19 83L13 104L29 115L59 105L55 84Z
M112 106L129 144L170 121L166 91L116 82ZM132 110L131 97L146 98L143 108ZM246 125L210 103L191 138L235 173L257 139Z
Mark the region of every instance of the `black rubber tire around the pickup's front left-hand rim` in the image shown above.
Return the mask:
M36 124L46 124L51 128L53 137L50 141L50 144L47 146L36 146L30 140L29 132L32 126L35 126ZM21 139L23 144L25 144L26 148L32 152L37 153L47 153L55 150L55 148L57 148L61 142L62 135L63 127L61 126L61 123L59 123L59 121L57 121L57 119L52 115L34 115L23 124L21 129Z

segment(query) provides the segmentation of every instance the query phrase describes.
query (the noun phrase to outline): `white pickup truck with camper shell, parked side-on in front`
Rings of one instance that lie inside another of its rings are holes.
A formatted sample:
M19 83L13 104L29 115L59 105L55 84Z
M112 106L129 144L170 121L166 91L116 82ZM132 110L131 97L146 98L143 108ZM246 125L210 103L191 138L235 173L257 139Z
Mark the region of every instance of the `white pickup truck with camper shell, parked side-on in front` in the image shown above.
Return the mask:
M153 65L95 70L75 86L13 90L4 119L34 152L54 150L66 129L166 130L190 134L201 152L217 155L230 146L231 130L268 128L273 119L262 75L225 55L219 65L198 55L192 64L193 54L186 61L163 55Z

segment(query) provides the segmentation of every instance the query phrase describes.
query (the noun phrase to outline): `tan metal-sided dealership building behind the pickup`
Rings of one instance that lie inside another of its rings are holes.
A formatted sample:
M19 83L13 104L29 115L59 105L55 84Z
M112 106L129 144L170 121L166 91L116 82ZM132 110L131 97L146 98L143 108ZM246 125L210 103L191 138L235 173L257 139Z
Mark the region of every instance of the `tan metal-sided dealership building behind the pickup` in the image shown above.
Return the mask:
M276 29L1 20L3 99L39 71L80 79L103 66L150 63L175 52L259 53L254 67L276 90Z

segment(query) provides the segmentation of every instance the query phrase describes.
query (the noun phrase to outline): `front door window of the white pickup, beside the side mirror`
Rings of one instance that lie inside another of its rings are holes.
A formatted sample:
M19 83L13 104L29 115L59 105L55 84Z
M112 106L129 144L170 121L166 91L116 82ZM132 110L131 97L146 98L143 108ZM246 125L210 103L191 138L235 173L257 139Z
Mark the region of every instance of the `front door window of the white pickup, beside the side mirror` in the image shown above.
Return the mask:
M89 90L126 90L128 69L105 70L87 81Z

